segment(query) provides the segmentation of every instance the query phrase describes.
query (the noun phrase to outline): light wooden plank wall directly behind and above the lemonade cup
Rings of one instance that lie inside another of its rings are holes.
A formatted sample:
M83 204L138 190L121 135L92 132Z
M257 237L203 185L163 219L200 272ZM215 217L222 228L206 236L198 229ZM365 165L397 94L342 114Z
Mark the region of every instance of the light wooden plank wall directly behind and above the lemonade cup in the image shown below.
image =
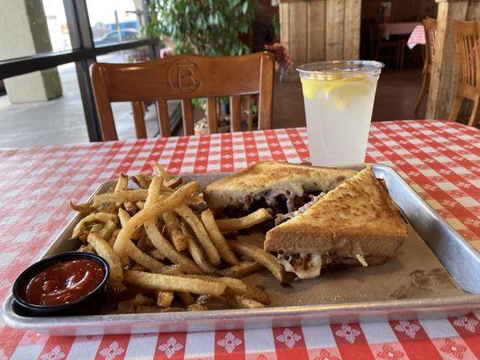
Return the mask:
M358 58L361 0L282 0L280 39L294 58L306 62Z

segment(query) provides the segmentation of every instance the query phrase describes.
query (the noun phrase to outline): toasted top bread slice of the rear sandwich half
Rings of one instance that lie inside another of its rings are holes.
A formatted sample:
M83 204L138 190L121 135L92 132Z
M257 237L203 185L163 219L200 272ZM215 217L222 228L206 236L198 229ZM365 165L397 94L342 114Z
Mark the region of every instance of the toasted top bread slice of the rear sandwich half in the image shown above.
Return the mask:
M304 192L327 192L357 174L356 171L296 165L277 161L262 161L240 173L209 184L204 199L216 211L227 206L244 205L251 198L286 193L303 196Z

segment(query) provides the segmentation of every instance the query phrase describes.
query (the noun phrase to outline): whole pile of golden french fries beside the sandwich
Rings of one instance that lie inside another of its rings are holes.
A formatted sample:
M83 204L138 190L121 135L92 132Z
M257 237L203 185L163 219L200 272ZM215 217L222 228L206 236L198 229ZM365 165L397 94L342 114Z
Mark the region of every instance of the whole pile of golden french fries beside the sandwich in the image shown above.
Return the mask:
M267 293L241 278L266 267L283 282L285 270L263 250L264 237L237 231L271 219L270 212L215 220L199 184L182 184L158 163L151 166L152 176L121 175L92 202L70 202L85 214L72 238L83 242L79 251L108 262L108 290L140 289L114 312L204 311L219 302L227 308L268 305Z

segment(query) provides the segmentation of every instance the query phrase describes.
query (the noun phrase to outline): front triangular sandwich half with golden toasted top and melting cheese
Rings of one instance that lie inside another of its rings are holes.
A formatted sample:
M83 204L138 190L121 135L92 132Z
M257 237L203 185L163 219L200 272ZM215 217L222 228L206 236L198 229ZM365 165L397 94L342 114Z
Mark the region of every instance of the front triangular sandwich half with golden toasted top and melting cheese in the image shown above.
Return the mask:
M408 227L370 167L267 232L264 248L301 279L322 268L374 266L393 257Z

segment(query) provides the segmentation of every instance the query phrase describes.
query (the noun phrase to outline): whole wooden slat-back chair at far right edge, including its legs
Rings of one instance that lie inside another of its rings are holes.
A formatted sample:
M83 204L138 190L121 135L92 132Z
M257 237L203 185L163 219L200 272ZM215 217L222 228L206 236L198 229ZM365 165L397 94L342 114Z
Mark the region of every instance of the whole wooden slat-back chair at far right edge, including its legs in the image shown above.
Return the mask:
M448 120L457 121L463 99L473 100L468 125L480 118L480 22L454 21L457 90Z

